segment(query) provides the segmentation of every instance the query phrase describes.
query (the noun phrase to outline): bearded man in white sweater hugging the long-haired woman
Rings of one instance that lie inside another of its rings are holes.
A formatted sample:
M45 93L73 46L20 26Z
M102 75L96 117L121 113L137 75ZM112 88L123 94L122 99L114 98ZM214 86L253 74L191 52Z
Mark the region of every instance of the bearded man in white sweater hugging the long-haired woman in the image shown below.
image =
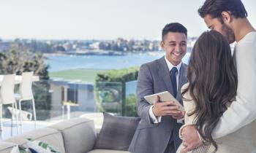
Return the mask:
M219 31L230 44L237 42L234 50L238 71L236 101L224 112L212 133L214 138L221 138L256 119L256 31L246 18L241 0L206 0L198 13L208 28ZM184 127L181 134L185 146L182 152L202 144L194 125Z

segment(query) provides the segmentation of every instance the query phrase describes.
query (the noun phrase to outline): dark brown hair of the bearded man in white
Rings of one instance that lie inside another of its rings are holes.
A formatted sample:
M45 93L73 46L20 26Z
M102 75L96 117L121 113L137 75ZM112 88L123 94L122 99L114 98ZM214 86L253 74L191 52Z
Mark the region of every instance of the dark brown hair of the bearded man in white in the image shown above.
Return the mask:
M212 18L222 19L222 12L230 12L236 18L244 18L248 15L241 0L206 0L198 9L200 17L210 15Z

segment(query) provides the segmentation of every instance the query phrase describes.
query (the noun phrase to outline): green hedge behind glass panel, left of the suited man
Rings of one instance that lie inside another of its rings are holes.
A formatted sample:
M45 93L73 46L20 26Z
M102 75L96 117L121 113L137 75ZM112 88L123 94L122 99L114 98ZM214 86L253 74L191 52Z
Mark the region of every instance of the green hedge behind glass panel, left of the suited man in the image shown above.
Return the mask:
M130 82L133 80L138 79L138 67L134 68L124 68L121 70L110 70L104 73L97 74L96 79L95 79L95 85L94 85L94 95L97 100L97 106L99 111L114 111L113 108L106 109L106 106L102 105L102 101L107 101L106 99L102 99L102 96L99 95L99 93L102 93L102 90L105 90L105 93L111 93L111 90L116 90L116 92L121 96L119 97L120 101L120 107L116 107L117 110L121 109L121 112L118 112L117 114L121 114L122 116L135 116L135 113L130 110L136 106L136 101L134 102L135 104L132 104L131 100L132 97L129 97L128 99L126 98L126 82ZM112 82L112 84L111 84ZM121 89L118 88L118 82L119 86L121 85ZM104 85L105 84L105 85ZM116 87L115 87L116 85ZM109 91L106 91L109 90ZM105 98L110 98L111 96L105 95ZM136 99L136 98L135 98ZM126 103L129 101L129 104ZM118 103L116 103L118 105ZM115 107L115 106L113 106ZM113 113L116 113L115 110ZM126 112L127 111L127 112ZM129 112L128 112L129 111ZM134 109L136 111L136 109ZM136 113L137 114L137 113Z

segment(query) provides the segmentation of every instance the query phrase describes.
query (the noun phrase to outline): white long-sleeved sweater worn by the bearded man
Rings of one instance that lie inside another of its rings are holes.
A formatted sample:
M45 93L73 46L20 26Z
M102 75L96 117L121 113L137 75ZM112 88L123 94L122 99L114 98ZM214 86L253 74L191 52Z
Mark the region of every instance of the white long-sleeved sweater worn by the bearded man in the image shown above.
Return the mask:
M214 138L227 136L256 119L256 31L236 44L234 60L238 72L236 101L219 119Z

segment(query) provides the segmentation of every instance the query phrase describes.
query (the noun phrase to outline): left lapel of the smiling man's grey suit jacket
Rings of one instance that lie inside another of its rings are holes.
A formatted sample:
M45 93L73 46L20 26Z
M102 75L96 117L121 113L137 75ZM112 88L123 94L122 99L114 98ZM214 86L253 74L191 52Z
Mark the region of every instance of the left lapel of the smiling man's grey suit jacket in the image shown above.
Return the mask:
M170 72L165 61L165 56L159 59L158 69L158 74L162 77L163 81L165 82L165 87L171 94L173 94L173 85L170 81Z

